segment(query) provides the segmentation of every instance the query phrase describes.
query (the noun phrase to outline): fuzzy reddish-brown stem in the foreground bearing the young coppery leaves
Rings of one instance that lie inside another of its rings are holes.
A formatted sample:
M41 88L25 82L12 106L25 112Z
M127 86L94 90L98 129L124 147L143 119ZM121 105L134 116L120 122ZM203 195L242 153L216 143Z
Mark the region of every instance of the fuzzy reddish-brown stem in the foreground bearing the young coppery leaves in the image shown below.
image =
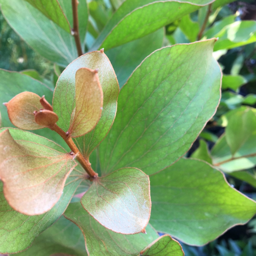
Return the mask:
M54 124L53 126L51 126L49 128L51 130L57 132L58 134L60 134L60 136L63 138L63 140L65 140L65 142L68 144L68 147L72 150L72 152L74 154L77 154L76 155L76 159L84 167L84 170L89 174L89 176L92 179L97 178L98 177L98 173L94 172L92 170L90 162L84 158L84 156L81 154L79 149L76 147L76 144L74 143L72 138L70 136L68 136L66 134L66 132L64 132L57 124Z

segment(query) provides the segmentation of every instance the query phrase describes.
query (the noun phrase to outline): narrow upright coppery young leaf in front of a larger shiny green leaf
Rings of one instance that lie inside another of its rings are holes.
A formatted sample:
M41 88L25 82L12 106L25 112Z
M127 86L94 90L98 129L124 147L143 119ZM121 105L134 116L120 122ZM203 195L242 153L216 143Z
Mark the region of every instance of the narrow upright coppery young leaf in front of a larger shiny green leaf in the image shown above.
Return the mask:
M103 92L98 71L80 68L76 71L76 108L68 133L79 137L90 132L100 120Z

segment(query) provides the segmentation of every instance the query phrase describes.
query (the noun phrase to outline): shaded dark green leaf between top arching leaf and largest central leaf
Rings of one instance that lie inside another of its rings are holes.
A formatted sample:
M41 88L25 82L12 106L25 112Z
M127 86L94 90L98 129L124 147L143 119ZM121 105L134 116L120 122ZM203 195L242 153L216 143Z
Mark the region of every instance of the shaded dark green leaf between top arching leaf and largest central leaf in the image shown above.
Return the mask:
M164 29L161 28L154 33L105 52L115 69L120 88L140 62L162 46L163 38Z

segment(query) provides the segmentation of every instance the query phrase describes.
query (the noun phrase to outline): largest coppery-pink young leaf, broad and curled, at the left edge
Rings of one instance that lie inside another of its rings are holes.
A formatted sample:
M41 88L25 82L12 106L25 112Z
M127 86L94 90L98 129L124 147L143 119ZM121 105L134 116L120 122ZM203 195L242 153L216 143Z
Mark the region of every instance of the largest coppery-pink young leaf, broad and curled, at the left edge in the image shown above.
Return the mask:
M8 203L27 215L49 211L76 166L73 156L39 143L14 140L9 130L0 133L0 149L0 177Z

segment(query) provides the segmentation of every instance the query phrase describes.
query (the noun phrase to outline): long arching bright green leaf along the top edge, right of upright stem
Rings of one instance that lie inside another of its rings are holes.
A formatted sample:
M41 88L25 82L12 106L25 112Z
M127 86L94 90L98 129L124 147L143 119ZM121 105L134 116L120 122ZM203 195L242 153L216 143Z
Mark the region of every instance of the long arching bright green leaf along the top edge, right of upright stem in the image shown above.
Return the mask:
M93 49L99 49L100 45L110 49L146 36L210 2L209 0L125 1L102 30Z

